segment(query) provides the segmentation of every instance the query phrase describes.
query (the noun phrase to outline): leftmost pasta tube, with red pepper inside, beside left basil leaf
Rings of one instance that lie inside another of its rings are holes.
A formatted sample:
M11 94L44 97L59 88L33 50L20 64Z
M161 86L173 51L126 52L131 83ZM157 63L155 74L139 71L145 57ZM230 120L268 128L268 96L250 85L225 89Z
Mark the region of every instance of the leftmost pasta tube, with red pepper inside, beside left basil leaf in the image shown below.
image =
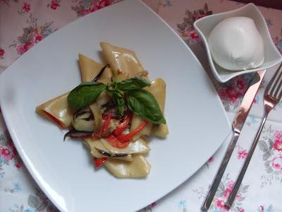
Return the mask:
M71 126L71 121L73 120L73 110L68 107L67 98L68 93L60 95L57 98L37 106L35 111L42 115L42 117L51 119L61 128L67 128Z

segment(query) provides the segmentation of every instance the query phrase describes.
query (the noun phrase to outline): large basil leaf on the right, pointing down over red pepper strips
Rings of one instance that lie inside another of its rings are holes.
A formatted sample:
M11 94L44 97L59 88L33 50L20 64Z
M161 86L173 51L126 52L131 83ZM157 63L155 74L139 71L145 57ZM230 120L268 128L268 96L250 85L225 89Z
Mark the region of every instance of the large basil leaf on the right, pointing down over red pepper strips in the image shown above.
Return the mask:
M153 124L166 124L157 100L147 90L132 90L126 95L126 103L132 112Z

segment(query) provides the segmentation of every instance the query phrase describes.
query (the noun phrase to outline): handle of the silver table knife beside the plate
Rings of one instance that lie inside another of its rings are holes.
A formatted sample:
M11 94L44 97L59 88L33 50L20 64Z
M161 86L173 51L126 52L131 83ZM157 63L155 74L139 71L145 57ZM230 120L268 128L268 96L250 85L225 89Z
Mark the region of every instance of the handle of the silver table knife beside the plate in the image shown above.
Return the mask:
M209 193L207 194L207 197L204 200L204 204L202 205L201 211L207 211L209 209L209 206L211 206L212 201L214 199L214 195L216 194L219 184L221 182L223 173L226 170L226 167L231 158L235 145L238 141L239 135L240 135L240 132L234 131L233 138L231 142L229 143L229 146L226 150L223 160L221 161L221 165L219 167L219 170L216 173L216 177L214 177L214 181L212 182L212 186L209 189Z

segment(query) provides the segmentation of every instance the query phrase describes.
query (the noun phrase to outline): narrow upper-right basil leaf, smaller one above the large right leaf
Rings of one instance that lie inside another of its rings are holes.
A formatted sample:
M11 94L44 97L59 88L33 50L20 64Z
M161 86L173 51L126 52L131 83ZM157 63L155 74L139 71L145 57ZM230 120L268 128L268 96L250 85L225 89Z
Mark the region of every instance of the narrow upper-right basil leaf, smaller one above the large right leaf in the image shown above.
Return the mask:
M145 78L135 77L135 78L129 78L129 79L119 82L117 84L117 88L123 91L140 90L150 85L151 83L147 81Z

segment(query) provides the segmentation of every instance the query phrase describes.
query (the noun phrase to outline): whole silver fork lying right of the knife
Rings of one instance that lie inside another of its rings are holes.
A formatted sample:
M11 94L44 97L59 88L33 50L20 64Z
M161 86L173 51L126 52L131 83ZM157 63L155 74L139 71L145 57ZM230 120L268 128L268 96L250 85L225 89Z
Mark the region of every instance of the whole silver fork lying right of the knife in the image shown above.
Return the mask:
M255 140L252 143L252 146L250 148L250 152L247 154L247 158L245 160L245 163L240 171L240 174L238 175L238 178L235 182L235 185L233 187L233 190L231 194L228 197L228 200L225 204L227 209L230 209L233 201L237 195L238 189L240 187L240 184L243 180L243 177L245 175L245 172L247 170L247 166L250 163L250 160L252 158L252 154L255 151L255 147L257 146L257 143L259 141L259 136L262 133L262 129L264 127L264 123L266 121L266 118L271 111L272 108L274 108L278 102L282 98L282 69L281 69L282 63L278 67L276 73L271 78L271 81L269 82L269 85L267 86L265 92L264 92L264 116L262 119L262 123L259 126L259 131L257 131L257 135L255 136Z

